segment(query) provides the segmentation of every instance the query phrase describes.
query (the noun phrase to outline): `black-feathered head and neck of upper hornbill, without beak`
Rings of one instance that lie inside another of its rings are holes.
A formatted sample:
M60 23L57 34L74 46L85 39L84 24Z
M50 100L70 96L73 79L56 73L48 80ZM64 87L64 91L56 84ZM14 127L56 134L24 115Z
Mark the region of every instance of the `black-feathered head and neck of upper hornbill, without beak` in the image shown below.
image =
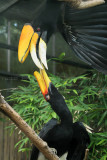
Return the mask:
M32 21L35 32L40 29L40 33L47 31L47 42L57 29L57 21L61 14L62 2L57 0L47 0L39 16Z

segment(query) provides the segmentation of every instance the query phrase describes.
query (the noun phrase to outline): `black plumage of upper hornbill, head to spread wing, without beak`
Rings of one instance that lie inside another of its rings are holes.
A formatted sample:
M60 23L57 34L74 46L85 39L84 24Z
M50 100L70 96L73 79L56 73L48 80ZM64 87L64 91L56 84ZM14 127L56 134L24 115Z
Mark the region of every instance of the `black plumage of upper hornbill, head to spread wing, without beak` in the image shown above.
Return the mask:
M98 71L107 74L107 0L105 4L76 9L69 2L47 0L45 7L32 21L44 40L59 31L74 53Z

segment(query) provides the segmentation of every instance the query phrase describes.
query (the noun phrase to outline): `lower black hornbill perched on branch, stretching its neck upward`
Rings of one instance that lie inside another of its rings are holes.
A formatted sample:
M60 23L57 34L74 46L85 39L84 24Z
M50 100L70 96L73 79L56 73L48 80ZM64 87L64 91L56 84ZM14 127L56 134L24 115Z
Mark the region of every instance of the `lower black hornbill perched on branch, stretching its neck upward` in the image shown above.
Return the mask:
M53 118L46 123L39 136L48 143L53 151L57 152L60 158L83 160L85 150L90 143L90 138L84 125L81 122L73 123L72 114L63 96L52 84L44 69L40 73L35 71L34 76L39 83L44 98L60 118L60 122ZM30 160L40 160L41 156L43 158L39 150L33 146Z

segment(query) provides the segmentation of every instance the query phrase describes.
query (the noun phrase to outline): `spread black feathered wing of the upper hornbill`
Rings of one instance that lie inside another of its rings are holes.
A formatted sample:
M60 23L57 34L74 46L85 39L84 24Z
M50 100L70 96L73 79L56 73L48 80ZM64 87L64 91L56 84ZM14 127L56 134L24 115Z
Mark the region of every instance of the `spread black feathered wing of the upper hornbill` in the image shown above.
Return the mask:
M107 1L88 9L64 7L59 29L75 54L93 68L107 74Z

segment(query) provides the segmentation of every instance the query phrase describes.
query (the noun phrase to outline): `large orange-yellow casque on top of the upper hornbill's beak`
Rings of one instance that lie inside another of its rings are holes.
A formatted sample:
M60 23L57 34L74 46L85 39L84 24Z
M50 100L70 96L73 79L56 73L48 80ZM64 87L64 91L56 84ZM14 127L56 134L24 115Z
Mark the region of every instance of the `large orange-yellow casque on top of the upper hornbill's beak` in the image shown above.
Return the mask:
M23 63L28 56L33 34L34 29L32 28L32 26L30 24L25 24L22 29L18 45L18 59L21 63Z

